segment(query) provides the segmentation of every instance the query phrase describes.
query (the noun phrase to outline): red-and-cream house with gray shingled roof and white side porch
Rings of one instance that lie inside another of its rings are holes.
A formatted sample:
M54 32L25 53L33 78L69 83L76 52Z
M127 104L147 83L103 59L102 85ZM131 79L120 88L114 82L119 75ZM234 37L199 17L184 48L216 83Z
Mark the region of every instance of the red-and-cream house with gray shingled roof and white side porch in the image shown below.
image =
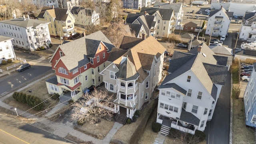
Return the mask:
M113 47L101 31L58 46L50 59L55 76L46 80L48 93L76 101L84 90L100 85L99 73L110 64Z

